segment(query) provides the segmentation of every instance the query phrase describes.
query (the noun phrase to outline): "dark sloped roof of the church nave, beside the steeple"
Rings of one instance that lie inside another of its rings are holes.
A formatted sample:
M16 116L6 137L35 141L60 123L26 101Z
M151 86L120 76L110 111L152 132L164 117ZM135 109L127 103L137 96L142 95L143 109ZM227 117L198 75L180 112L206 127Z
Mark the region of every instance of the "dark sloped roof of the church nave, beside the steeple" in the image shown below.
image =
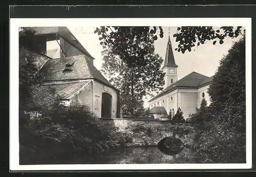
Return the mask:
M153 101L154 99L157 99L166 93L169 93L179 87L189 87L189 88L198 88L201 86L201 83L206 84L208 81L210 81L210 78L206 75L197 73L197 72L191 72L188 75L186 75L184 78L180 79L179 81L169 85L164 89L162 92L160 92L158 95L156 95L154 98L149 100L148 102Z

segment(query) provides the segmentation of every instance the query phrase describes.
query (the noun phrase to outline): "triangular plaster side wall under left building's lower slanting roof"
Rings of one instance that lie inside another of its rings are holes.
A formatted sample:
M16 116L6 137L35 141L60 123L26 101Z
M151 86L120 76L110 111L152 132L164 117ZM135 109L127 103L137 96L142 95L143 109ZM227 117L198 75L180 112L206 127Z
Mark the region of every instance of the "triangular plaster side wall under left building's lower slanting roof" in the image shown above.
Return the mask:
M88 106L90 109L92 109L92 92L93 92L93 87L92 87L92 83L90 83L78 94L70 98L70 105L83 104Z

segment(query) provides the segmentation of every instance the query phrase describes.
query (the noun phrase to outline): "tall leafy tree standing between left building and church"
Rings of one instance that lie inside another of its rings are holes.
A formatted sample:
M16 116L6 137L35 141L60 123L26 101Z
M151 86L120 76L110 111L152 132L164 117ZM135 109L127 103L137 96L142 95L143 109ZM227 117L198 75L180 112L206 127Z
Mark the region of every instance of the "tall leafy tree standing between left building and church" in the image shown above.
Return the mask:
M164 73L160 70L162 58L155 54L153 35L147 33L146 40L138 38L136 28L130 28L125 37L127 55L116 52L113 45L103 45L101 72L120 90L124 114L143 112L143 96L162 90ZM143 53L143 55L142 55ZM128 56L132 61L123 58ZM137 61L144 61L140 63Z

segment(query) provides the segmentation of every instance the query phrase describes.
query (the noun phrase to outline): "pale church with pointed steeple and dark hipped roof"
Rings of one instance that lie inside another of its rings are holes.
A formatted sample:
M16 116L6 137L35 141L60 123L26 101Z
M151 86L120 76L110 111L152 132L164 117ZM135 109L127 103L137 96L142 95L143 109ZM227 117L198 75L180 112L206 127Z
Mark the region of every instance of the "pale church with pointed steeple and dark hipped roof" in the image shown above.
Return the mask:
M191 72L178 80L178 65L175 63L172 43L168 38L164 65L164 89L148 101L150 115L155 119L161 119L171 112L174 116L180 108L184 119L190 113L195 113L204 98L207 105L210 104L207 90L213 77Z

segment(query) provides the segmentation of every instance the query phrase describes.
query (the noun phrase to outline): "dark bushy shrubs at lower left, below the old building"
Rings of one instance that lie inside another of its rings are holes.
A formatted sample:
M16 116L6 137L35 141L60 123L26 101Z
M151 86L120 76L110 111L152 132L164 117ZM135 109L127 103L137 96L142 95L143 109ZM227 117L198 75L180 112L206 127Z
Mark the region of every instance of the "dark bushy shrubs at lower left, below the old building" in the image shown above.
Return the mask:
M84 105L59 105L46 114L30 119L20 133L20 144L35 151L37 161L45 157L50 162L55 157L60 163L62 156L91 156L129 141L129 135L119 132L113 122L99 121Z

